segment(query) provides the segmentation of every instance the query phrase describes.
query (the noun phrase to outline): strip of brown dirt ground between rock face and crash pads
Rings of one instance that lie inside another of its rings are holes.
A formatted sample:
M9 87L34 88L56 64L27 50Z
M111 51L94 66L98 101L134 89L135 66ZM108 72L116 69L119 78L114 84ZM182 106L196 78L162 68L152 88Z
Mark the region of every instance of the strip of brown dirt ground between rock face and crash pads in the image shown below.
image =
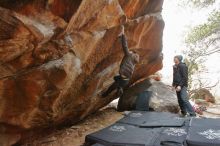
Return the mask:
M47 136L32 137L22 146L82 146L86 135L105 128L122 117L123 114L116 112L114 108L105 108L77 125L53 130Z

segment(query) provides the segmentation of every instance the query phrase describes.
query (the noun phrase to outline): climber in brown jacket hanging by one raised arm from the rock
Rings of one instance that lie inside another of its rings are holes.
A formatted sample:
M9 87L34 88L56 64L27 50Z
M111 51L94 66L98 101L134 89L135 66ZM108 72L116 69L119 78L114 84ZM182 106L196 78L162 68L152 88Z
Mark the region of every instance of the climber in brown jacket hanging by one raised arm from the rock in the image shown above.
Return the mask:
M139 62L139 55L134 51L129 51L124 34L124 26L122 25L121 27L122 32L119 34L119 37L121 39L124 57L120 64L119 75L114 77L115 82L102 94L102 97L108 96L115 89L117 89L117 96L121 96L133 75L135 65Z

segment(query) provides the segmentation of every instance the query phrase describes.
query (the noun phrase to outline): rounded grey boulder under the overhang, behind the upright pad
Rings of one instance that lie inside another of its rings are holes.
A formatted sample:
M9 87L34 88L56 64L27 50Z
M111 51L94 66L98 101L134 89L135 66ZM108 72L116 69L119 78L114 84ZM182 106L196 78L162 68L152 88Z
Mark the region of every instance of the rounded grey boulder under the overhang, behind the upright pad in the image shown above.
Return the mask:
M153 79L145 79L125 90L124 95L119 99L118 110L135 110L137 97L144 91L152 92L149 99L149 107L151 110L158 112L179 112L179 105L175 91L163 82L155 81Z

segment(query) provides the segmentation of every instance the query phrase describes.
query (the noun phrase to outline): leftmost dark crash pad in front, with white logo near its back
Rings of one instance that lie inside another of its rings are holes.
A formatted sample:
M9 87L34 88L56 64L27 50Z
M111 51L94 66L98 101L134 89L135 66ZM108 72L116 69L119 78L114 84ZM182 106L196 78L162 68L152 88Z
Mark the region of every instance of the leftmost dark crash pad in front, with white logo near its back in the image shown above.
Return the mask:
M104 146L153 146L162 128L139 128L116 123L86 136L86 145L99 143Z

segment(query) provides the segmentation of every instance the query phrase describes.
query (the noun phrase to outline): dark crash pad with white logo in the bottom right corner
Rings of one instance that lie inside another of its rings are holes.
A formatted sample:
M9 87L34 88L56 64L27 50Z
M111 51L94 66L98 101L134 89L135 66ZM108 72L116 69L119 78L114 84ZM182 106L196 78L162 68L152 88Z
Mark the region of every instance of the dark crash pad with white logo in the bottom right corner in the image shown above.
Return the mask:
M220 146L220 119L196 119L190 122L188 146Z

